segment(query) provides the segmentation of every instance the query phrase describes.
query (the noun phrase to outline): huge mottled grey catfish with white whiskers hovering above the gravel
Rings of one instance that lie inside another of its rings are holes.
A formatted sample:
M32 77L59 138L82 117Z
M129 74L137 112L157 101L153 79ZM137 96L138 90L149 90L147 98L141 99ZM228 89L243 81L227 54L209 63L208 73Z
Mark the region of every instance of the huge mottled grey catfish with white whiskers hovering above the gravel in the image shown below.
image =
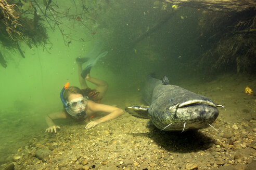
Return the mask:
M169 84L166 76L162 80L149 76L142 97L149 107L125 108L132 116L151 119L163 131L198 130L211 126L219 116L217 105L210 98Z

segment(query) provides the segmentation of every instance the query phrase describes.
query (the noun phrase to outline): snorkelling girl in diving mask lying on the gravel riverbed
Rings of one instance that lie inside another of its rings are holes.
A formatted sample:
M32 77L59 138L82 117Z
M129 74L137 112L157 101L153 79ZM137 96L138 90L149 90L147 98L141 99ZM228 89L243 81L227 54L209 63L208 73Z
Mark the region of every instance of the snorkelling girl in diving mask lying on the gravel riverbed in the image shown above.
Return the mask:
M76 63L78 63L79 81L82 89L78 87L68 87L68 83L61 91L61 101L65 109L60 112L55 112L53 114L47 115L45 118L48 128L45 132L57 132L60 126L55 125L53 120L56 119L67 119L72 118L76 121L85 120L86 118L91 118L96 112L107 112L108 115L89 122L85 129L91 129L99 123L106 122L108 120L115 119L123 114L123 110L110 105L99 104L101 98L105 94L108 88L108 83L103 80L93 78L89 75L91 67L86 67L82 71L82 64L87 61L87 58L76 58ZM85 79L82 77L86 73ZM86 81L90 81L96 84L94 90L87 87Z

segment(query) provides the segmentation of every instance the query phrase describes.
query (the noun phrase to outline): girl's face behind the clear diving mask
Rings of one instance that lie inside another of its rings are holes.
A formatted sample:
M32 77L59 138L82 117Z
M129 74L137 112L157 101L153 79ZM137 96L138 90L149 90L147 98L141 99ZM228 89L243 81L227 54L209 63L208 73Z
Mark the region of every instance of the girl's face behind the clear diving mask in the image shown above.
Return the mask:
M68 97L68 103L70 109L74 112L79 112L84 110L87 104L87 101L84 100L82 94L70 94Z

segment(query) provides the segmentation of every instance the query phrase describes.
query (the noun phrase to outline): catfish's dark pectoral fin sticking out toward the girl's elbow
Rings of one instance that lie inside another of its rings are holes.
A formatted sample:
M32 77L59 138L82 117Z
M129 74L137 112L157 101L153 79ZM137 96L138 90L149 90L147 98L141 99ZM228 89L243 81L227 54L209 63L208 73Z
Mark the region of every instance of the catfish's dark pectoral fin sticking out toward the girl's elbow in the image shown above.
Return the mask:
M148 107L132 106L127 107L124 110L129 112L130 115L136 118L150 119L150 116L148 114Z

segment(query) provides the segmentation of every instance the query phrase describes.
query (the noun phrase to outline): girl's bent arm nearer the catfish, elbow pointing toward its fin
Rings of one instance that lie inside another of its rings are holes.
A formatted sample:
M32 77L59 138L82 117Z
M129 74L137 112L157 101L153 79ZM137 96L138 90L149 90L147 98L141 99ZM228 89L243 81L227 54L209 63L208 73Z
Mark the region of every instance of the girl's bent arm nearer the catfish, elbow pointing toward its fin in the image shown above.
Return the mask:
M123 114L123 110L120 108L113 107L110 105L98 104L98 103L94 103L91 101L88 102L88 109L92 112L102 111L102 112L108 112L109 114L98 119L98 120L89 122L85 126L85 129L90 129L99 123L103 123L103 122L106 122L106 121L109 121L112 119L116 119Z

